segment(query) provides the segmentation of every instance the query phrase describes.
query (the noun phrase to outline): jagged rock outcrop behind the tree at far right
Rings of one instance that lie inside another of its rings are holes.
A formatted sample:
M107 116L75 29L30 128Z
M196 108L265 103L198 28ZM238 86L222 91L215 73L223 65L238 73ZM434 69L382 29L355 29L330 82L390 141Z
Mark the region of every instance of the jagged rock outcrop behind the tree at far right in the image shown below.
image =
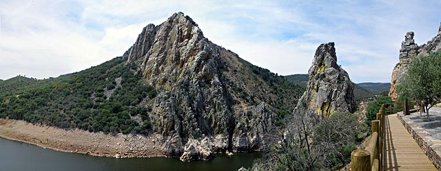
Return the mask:
M427 44L418 46L413 40L413 32L407 32L404 36L404 41L401 43L400 62L397 63L392 71L391 89L389 90L389 97L396 101L398 94L396 94L396 85L400 83L404 73L407 71L407 65L418 55L427 55L431 52L437 52L441 49L441 23L438 29L438 34L433 37Z

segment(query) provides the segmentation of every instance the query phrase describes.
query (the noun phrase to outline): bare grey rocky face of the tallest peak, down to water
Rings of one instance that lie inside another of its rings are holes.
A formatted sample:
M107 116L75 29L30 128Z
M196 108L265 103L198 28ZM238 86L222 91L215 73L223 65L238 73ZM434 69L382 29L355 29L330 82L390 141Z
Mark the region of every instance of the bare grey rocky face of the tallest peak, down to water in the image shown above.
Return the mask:
M263 150L280 110L276 104L294 108L301 91L212 43L181 12L145 27L124 55L158 91L142 105L152 109L153 132L166 137L166 155L183 161L228 149Z

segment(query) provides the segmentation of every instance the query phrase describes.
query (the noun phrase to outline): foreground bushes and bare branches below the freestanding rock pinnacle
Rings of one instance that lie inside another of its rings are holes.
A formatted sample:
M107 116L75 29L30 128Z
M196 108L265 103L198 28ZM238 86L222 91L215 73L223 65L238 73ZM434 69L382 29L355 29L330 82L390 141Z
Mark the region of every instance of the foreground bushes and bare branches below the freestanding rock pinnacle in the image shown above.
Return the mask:
M318 119L311 112L294 114L280 145L255 161L253 170L337 170L350 161L360 143L363 124L356 114L336 113Z

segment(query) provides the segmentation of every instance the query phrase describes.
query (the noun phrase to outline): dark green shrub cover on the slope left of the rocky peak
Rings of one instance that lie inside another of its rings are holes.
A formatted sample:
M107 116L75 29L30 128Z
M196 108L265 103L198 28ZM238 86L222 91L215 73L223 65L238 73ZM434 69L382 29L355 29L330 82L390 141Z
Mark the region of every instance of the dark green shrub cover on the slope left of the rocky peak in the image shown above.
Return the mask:
M156 90L146 86L134 68L136 64L125 65L125 59L117 57L55 79L2 81L0 117L93 132L147 134L150 109L137 105L154 98ZM141 115L143 123L131 115Z

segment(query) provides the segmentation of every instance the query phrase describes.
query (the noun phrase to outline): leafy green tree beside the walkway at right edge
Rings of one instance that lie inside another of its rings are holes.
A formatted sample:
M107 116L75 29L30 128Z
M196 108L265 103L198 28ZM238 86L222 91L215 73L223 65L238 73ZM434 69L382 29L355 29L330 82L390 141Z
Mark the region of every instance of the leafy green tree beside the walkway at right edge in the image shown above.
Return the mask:
M441 101L441 51L413 59L397 92L401 99L414 99L424 106L429 121L429 109Z

